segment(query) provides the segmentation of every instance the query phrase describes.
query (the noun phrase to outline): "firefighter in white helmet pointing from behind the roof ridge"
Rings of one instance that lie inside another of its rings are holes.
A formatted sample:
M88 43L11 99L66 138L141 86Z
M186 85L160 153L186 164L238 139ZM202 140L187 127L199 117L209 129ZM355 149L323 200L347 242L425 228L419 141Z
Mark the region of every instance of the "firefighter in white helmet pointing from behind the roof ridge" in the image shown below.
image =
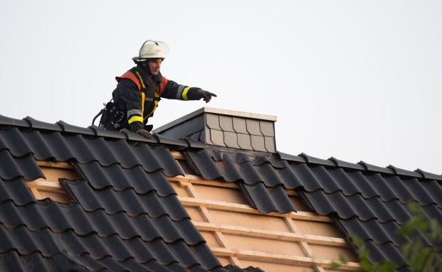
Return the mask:
M132 60L137 65L125 72L117 80L117 88L112 92L112 100L102 111L100 127L111 130L129 129L146 138L152 138L147 125L154 115L162 98L179 100L204 99L207 103L216 94L199 87L179 85L167 80L159 72L165 56L169 53L166 43L146 40L140 53Z

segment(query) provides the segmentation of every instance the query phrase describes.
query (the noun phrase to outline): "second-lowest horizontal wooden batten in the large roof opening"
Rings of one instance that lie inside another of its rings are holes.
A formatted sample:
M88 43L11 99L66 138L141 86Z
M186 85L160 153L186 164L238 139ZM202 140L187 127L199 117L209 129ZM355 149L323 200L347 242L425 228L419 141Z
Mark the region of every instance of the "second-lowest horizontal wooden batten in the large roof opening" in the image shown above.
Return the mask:
M282 239L285 241L305 241L312 244L323 244L330 246L347 246L347 242L341 238L317 236L312 234L296 234L291 232L275 232L265 229L251 229L232 225L217 225L211 222L194 222L197 229L210 232L223 232L228 234L238 234L254 236L268 239Z

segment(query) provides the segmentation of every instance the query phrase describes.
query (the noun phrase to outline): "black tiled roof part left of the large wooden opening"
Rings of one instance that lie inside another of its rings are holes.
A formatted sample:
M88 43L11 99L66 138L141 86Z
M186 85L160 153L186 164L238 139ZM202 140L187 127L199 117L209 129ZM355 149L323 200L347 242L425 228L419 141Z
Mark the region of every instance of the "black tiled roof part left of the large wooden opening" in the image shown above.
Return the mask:
M222 267L166 179L193 144L0 116L0 271L261 271ZM75 201L33 197L36 160L73 163Z

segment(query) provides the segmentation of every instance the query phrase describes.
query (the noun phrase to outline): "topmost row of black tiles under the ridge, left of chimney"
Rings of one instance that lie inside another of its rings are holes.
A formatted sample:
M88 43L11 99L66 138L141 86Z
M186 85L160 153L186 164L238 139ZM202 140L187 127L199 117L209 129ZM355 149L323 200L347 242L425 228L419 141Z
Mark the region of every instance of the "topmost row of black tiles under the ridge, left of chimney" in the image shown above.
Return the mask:
M162 169L166 175L184 174L164 146L129 144L122 139L105 141L101 137L85 138L79 134L63 136L60 132L19 131L16 128L1 130L0 135L0 150L8 148L16 157L33 153L36 159L43 161L98 161L100 165L119 163L124 168L142 165L147 171Z

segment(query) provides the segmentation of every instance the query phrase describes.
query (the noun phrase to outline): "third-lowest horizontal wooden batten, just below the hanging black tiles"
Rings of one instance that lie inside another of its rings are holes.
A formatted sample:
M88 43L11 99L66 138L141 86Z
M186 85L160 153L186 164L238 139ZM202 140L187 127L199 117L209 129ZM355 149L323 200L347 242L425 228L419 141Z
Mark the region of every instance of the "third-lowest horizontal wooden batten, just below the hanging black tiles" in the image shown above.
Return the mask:
M214 210L226 210L231 212L246 212L250 214L261 214L258 210L250 207L249 205L236 204L231 202L221 202L214 200L203 200L193 197L178 197L179 201L183 205L199 207L204 206ZM288 212L286 214L280 214L279 212L268 212L264 215L274 217L290 217L293 219L316 221L316 222L333 222L330 217L325 217L314 212Z

